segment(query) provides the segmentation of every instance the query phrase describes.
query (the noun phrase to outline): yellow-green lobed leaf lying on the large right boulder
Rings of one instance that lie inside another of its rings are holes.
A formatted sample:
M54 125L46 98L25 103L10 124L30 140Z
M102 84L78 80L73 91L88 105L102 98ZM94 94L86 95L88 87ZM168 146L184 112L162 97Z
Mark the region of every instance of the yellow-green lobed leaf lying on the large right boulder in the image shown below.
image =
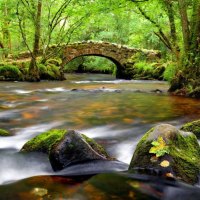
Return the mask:
M149 153L156 154L156 157L164 156L169 154L169 146L166 145L164 139L160 136L157 140L151 143L153 147L149 150Z

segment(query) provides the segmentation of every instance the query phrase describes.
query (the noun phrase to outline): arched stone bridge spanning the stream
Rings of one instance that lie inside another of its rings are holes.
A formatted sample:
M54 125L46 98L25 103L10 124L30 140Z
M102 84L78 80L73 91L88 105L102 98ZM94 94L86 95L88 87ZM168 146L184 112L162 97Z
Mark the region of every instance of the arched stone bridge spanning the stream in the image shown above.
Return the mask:
M63 49L63 63L64 65L80 56L100 56L111 60L117 67L116 78L131 79L130 66L133 66L133 56L136 53L142 53L149 57L158 57L159 53L153 50L141 50L136 48L129 48L118 44L109 42L79 42L68 44L62 47Z

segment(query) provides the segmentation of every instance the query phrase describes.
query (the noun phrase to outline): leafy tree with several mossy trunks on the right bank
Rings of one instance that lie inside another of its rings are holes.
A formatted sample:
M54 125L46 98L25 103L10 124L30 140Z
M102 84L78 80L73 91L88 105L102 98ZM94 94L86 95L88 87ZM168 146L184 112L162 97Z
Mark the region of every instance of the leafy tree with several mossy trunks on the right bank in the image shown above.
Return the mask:
M163 6L168 17L168 29L162 25L161 19L155 18L155 8L149 12L155 5ZM177 74L171 82L170 91L200 96L200 0L154 0L136 3L136 6L140 14L154 25L158 38L175 55ZM175 11L179 14L175 15ZM181 34L177 33L177 28Z

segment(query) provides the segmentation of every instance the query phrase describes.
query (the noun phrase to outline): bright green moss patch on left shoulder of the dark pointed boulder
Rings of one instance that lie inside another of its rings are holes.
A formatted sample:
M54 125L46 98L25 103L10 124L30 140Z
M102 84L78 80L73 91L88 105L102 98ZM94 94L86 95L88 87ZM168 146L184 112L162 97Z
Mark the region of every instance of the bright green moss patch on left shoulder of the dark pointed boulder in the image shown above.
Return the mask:
M42 133L28 141L22 147L21 152L43 152L48 154L51 147L56 145L66 133L67 130L62 129L53 129Z

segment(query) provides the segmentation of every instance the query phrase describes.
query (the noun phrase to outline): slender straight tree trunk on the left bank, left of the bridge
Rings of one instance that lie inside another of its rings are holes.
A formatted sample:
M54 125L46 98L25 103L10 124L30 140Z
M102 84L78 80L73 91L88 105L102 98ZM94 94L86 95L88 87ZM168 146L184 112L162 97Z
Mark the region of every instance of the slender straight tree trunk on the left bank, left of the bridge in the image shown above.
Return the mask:
M34 37L34 46L32 59L29 66L29 77L30 81L39 81L39 69L37 66L37 55L40 49L40 35L41 35L41 14L42 14L42 0L38 0L37 5L37 14L35 19L35 37Z

